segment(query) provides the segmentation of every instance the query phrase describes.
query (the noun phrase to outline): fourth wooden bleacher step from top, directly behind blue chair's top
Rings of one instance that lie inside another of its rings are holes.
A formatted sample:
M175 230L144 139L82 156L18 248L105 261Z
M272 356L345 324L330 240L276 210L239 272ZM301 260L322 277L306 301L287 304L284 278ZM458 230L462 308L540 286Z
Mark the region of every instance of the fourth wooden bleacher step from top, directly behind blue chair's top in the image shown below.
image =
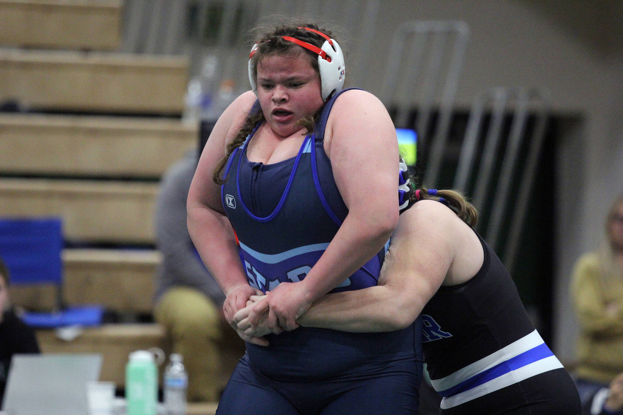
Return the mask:
M158 184L0 179L0 217L59 216L71 241L153 243Z

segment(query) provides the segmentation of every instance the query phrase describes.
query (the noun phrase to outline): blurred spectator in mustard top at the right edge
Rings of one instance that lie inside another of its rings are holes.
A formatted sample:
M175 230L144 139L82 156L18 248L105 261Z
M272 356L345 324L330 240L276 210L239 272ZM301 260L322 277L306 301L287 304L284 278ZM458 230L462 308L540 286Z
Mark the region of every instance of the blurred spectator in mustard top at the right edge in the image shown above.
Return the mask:
M578 260L571 283L581 327L576 385L587 411L601 389L610 389L612 408L621 409L615 403L623 372L623 194L612 204L606 235L599 251Z

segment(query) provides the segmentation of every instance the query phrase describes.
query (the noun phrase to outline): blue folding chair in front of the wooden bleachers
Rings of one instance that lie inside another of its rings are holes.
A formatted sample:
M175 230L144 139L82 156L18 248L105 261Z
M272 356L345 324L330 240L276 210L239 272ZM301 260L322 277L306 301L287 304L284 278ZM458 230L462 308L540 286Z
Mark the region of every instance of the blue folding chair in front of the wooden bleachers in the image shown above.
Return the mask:
M63 307L63 231L59 218L0 218L0 257L9 269L11 284L54 284L57 308L54 312L26 312L21 315L33 327L102 324L103 307Z

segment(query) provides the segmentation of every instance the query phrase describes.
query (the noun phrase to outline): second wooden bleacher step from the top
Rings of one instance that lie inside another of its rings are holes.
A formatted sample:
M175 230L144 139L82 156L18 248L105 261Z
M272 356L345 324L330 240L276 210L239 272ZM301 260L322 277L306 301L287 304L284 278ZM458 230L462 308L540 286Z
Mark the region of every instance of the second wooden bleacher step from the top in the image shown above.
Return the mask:
M188 58L0 49L0 101L30 108L181 114Z

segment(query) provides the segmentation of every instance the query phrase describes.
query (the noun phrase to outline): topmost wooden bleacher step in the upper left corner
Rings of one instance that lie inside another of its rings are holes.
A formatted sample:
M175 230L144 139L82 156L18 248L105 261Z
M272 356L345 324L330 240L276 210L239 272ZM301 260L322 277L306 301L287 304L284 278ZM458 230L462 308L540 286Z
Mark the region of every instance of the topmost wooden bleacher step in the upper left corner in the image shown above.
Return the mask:
M0 0L0 45L112 50L121 0Z

